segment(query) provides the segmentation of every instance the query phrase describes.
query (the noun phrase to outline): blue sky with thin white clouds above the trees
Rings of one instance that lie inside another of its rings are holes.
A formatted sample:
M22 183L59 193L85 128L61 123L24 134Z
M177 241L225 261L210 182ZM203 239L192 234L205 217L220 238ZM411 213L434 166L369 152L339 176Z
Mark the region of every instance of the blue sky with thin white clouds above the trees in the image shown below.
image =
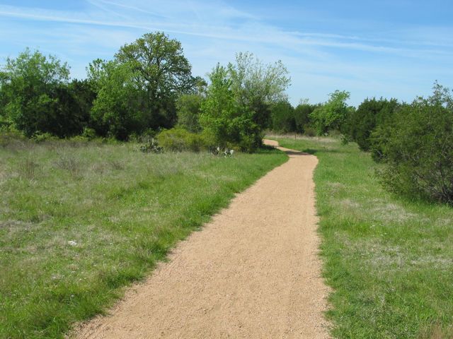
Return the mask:
M38 48L84 78L93 59L162 30L182 42L195 75L236 52L282 60L293 104L337 89L350 91L351 105L411 101L436 80L453 87L452 13L451 0L0 0L0 64Z

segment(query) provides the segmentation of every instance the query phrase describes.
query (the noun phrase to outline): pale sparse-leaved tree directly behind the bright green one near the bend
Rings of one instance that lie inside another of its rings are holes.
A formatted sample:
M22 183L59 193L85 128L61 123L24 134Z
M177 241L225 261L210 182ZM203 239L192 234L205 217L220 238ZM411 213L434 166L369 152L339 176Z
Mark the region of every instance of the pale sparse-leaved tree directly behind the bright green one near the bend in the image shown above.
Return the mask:
M290 83L287 69L282 61L263 64L251 53L236 54L236 62L227 69L239 105L253 112L253 121L264 129L270 123L271 105L286 100Z

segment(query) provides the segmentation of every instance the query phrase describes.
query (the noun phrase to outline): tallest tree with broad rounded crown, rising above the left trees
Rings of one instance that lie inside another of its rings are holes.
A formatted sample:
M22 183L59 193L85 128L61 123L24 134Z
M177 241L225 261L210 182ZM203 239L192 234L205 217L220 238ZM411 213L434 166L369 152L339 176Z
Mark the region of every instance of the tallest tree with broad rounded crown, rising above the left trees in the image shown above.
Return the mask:
M164 32L147 33L115 54L118 64L127 64L136 85L147 93L147 120L151 128L176 122L175 100L195 83L189 61L178 40Z

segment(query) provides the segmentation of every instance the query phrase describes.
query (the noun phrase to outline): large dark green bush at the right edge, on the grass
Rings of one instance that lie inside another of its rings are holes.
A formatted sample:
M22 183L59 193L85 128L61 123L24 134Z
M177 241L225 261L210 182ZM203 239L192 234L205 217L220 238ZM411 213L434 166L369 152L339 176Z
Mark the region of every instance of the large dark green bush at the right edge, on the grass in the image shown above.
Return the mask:
M427 99L404 105L374 133L385 169L382 181L398 194L453 204L453 97L435 84Z

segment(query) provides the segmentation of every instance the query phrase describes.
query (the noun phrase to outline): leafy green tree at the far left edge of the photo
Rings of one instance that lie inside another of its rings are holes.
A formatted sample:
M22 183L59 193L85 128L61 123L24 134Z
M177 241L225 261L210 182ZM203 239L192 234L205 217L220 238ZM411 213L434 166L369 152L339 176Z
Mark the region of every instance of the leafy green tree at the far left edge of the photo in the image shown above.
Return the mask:
M79 133L84 117L73 112L74 98L68 89L69 66L54 56L25 49L8 58L1 76L4 116L25 135Z

